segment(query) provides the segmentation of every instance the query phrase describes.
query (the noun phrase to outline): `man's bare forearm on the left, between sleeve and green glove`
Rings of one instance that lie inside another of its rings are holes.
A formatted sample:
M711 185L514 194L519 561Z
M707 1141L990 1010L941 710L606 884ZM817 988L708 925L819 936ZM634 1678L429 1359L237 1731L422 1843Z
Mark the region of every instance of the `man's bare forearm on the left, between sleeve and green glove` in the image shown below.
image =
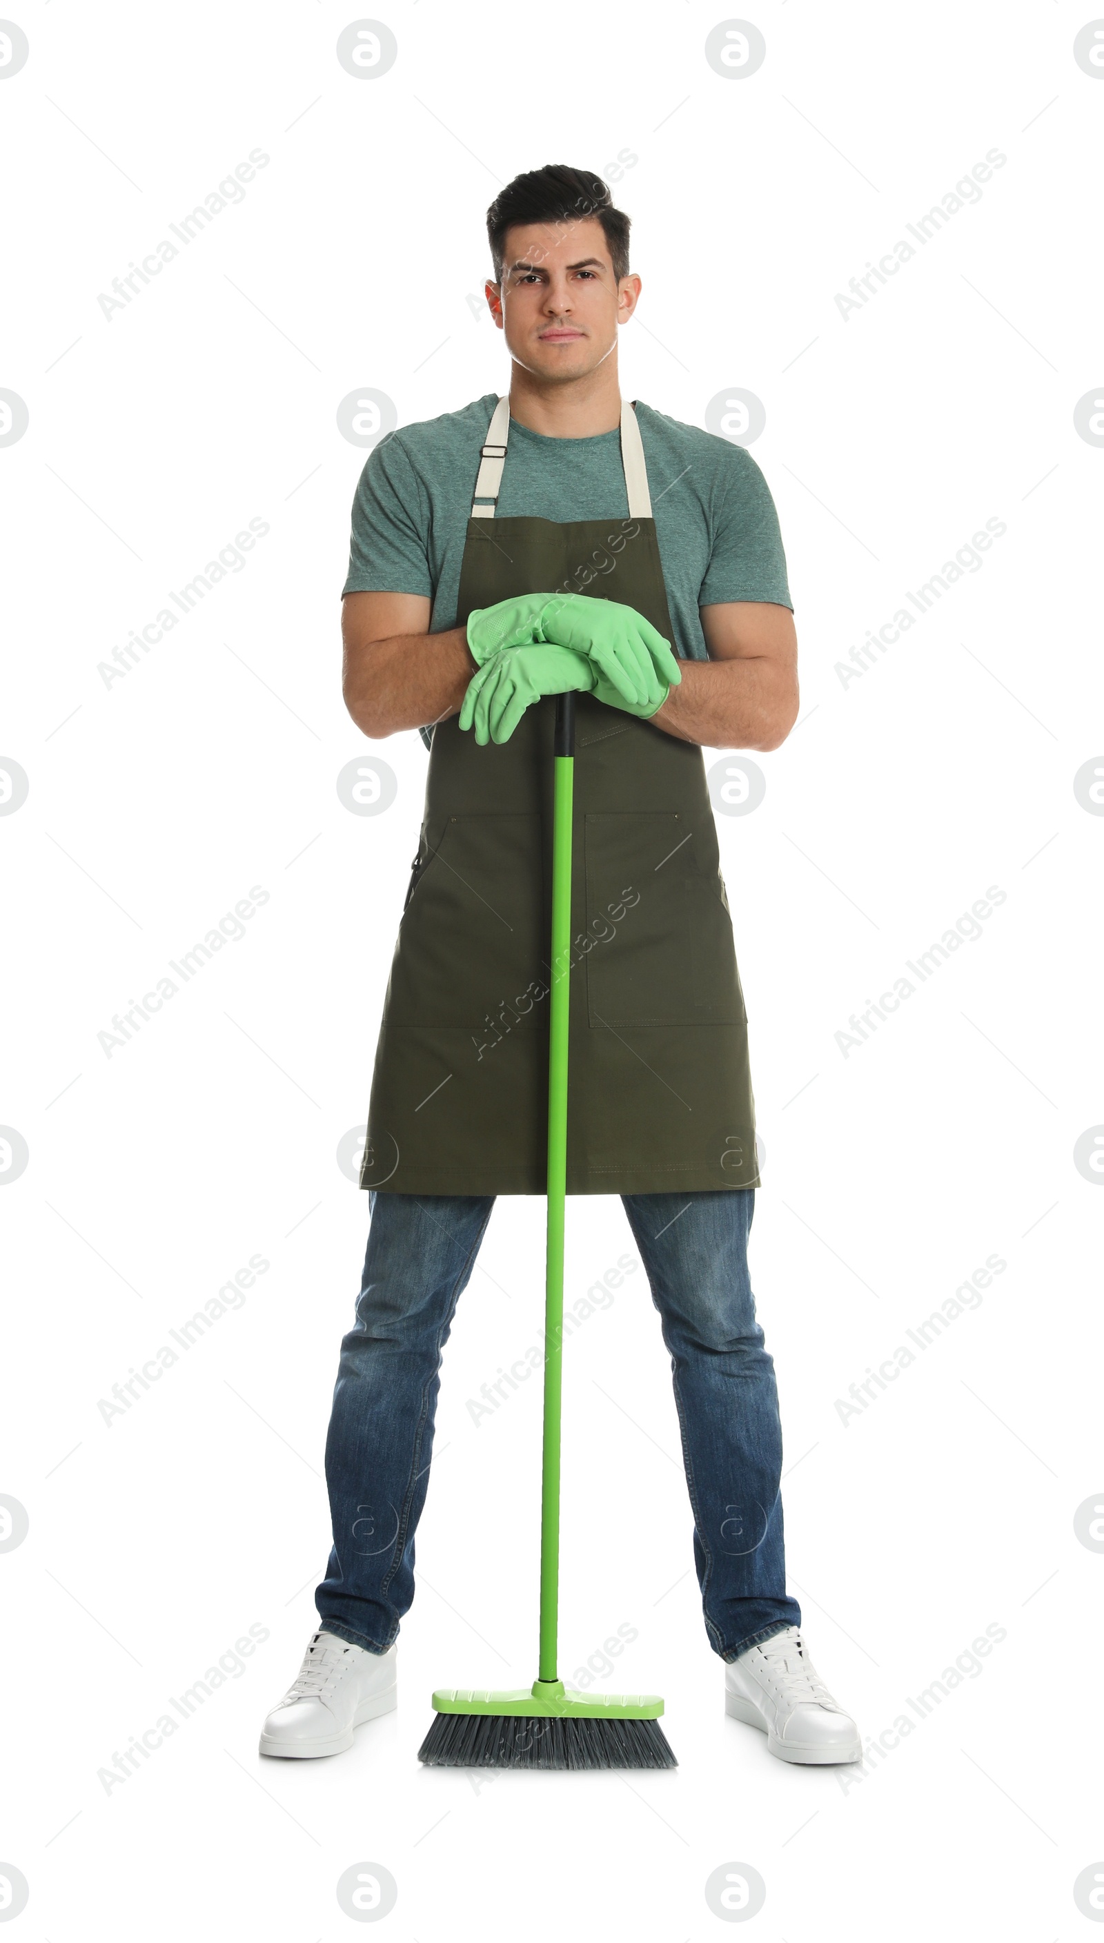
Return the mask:
M344 703L363 734L379 738L457 715L476 663L465 628L346 641Z

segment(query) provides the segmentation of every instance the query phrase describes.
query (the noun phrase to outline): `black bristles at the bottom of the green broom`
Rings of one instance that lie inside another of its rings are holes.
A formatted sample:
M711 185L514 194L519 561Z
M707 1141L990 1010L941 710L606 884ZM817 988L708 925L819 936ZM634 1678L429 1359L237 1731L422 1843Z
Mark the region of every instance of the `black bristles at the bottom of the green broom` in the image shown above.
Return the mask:
M430 1768L676 1768L657 1720L435 1714L418 1749Z

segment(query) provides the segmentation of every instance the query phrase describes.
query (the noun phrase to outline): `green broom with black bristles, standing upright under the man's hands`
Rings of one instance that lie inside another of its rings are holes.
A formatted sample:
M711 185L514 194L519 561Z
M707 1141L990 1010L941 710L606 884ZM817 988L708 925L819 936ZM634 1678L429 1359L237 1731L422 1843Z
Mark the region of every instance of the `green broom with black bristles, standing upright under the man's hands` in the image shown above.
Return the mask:
M674 1768L659 1694L589 1696L556 1677L560 1576L560 1380L568 1181L568 973L571 968L571 785L575 698L556 701L552 810L552 999L548 1020L548 1255L540 1481L540 1673L533 1687L439 1687L418 1760L437 1768Z

